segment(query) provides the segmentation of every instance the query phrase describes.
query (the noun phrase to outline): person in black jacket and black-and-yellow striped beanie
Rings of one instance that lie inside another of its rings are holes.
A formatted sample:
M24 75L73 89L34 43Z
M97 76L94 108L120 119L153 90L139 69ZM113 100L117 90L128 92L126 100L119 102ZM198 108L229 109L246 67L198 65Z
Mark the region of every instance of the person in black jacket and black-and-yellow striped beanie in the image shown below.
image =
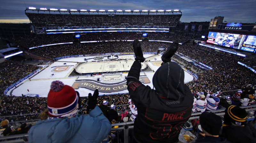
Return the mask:
M224 123L220 136L233 143L255 143L256 129L245 124L248 114L245 109L231 105L225 110Z

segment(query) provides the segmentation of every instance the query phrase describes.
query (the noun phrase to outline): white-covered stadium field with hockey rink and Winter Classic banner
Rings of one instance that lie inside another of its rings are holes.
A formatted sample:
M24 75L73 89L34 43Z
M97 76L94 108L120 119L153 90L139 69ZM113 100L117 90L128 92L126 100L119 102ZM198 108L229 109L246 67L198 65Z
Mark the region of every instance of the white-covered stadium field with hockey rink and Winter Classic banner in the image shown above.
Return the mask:
M98 55L101 56L101 55ZM75 90L79 92L80 96L88 96L89 93L93 93L94 89L99 89L99 94L118 94L128 93L126 87L126 79L128 72L117 72L114 74L104 73L103 75L81 75L70 76L78 64L84 64L82 70L84 73L90 72L116 72L116 71L129 71L133 62L134 55L118 55L117 59L124 59L122 61L105 61L108 60L107 56L104 56L101 60L93 59L96 56L82 56L64 58L50 65L44 65L43 70L34 74L29 79L23 80L17 85L16 88L12 88L7 92L7 95L21 96L21 94L38 94L39 97L47 97L50 91L50 85L52 81L60 80L65 85L76 87ZM147 65L150 69L156 71L161 62L161 55L144 54L147 62L142 64L142 69ZM86 59L86 60L85 60ZM150 60L150 61L149 61ZM86 65L86 66L85 66ZM152 79L155 72L140 72L140 80L143 84L153 88ZM190 73L184 71L184 82L193 80L193 76ZM99 81L97 81L99 80ZM89 85L85 87L85 85ZM106 87L109 86L109 87ZM112 87L111 87L112 86ZM115 87L116 86L116 87ZM93 89L94 87L94 89ZM108 90L108 89L114 90ZM102 89L102 90L100 90ZM105 90L104 90L105 89ZM28 91L29 90L29 91ZM102 92L101 92L102 91ZM111 91L111 92L110 92Z

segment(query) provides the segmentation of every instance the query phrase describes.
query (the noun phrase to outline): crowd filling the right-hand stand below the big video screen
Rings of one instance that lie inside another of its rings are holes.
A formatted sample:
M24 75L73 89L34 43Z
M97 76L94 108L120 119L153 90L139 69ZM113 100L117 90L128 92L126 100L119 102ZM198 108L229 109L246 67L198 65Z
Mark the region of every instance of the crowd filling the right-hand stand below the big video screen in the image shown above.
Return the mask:
M187 83L193 91L229 91L242 89L247 84L256 85L255 73L237 64L238 61L242 63L250 61L249 63L252 63L251 59L244 60L243 57L217 52L197 45L182 45L178 52L213 68L198 73L197 80Z

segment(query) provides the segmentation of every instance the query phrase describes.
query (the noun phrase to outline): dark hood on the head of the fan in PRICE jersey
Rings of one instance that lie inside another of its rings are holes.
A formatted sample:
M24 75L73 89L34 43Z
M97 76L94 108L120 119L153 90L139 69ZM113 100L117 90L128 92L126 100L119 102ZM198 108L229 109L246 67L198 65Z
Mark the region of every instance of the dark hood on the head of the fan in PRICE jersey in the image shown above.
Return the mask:
M168 62L156 71L153 86L162 97L179 100L185 95L184 71L179 64Z

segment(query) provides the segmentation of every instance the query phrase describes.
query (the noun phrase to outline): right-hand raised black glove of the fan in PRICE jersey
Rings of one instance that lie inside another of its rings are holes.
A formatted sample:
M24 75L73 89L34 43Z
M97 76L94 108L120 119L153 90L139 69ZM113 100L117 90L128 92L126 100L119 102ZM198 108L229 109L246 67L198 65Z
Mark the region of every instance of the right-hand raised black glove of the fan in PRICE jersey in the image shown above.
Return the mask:
M170 62L171 61L171 57L174 55L174 53L177 51L178 49L178 41L174 41L172 43L172 45L167 49L167 51L163 54L162 56L162 61L164 63Z

